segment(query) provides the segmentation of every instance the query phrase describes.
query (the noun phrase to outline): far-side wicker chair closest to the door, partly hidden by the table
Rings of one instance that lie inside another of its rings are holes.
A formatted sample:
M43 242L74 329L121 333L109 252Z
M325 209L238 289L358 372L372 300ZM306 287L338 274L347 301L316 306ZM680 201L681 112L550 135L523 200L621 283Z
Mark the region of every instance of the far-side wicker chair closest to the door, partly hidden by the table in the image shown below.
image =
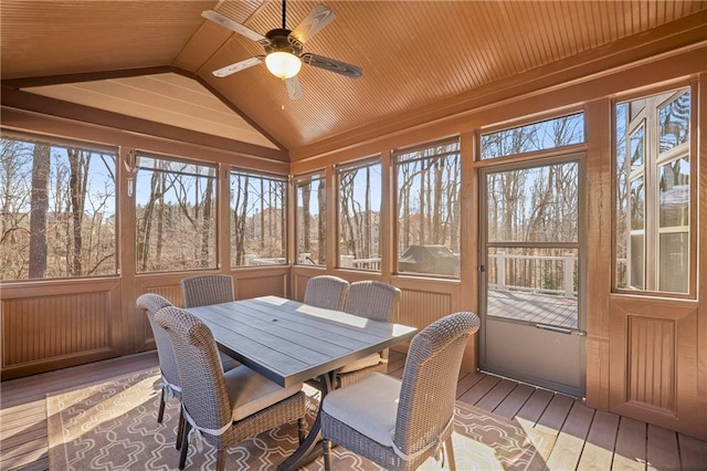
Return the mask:
M344 312L373 321L394 322L398 317L401 292L380 281L351 283ZM388 373L388 349L369 355L336 371L337 387L357 381L371 373Z

